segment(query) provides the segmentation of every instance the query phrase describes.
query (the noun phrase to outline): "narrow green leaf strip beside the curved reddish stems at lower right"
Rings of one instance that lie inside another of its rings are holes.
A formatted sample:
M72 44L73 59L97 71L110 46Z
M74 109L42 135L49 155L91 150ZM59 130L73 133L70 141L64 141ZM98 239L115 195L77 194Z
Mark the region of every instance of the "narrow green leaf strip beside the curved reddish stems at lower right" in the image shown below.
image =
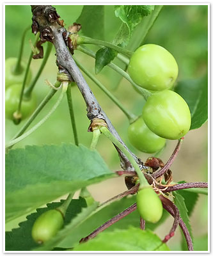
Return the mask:
M173 191L173 195L175 196L174 203L175 203L175 205L177 205L177 207L180 211L180 217L184 221L186 227L189 230L189 234L190 234L191 238L193 239L191 224L189 221L188 210L187 210L187 207L185 206L184 197L182 195L180 195L179 191Z

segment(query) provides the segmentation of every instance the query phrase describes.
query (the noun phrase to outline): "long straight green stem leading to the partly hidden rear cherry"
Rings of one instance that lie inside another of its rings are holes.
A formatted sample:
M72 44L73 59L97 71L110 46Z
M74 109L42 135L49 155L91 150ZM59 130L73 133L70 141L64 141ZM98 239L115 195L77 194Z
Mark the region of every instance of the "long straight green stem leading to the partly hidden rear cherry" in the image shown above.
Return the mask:
M106 93L106 95L107 95L111 100L113 100L114 104L116 104L116 105L118 106L118 108L120 108L120 109L123 111L123 113L124 113L124 114L127 116L127 118L129 119L130 124L131 124L132 122L134 122L134 121L138 118L138 116L134 115L134 114L131 113L128 109L126 109L126 108L122 105L122 103L121 103L116 97L114 97L114 95L113 95L111 92L109 92L109 90L107 90L107 88L106 88L102 83L100 83L100 81L99 81L95 76L93 76L93 74L90 73L90 71L88 71L86 68L83 67L83 65L81 65L81 64L79 63L79 61L77 61L76 59L74 59L74 60L75 60L75 63L79 66L79 68L81 68L81 70L83 70L83 72L84 72L88 77L90 77L90 79L91 79L94 83L96 83L97 86L99 86L99 88L100 88L104 93Z

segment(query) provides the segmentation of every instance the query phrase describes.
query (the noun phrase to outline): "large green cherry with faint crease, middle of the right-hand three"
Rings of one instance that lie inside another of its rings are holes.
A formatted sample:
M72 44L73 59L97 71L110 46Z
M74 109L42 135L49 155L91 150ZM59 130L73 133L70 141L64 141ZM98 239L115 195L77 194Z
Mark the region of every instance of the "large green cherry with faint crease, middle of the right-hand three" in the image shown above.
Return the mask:
M189 131L191 113L178 93L166 90L148 97L143 106L143 120L158 136L176 140Z

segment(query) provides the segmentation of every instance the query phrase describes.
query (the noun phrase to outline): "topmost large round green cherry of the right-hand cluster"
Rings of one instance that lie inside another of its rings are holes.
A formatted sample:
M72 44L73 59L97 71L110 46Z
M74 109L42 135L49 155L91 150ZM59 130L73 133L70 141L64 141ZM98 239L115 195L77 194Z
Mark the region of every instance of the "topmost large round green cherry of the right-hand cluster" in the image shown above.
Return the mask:
M146 44L139 47L129 61L132 80L147 90L168 90L178 76L175 58L164 47Z

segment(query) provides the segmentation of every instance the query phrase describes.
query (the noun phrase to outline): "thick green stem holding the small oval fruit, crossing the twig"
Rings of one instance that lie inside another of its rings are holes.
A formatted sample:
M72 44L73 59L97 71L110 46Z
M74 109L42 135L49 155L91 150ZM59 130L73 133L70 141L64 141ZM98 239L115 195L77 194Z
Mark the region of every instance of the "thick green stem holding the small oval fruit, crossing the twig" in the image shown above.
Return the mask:
M125 154L125 156L129 159L130 163L132 164L134 170L136 171L136 173L138 174L138 178L139 178L139 189L143 188L144 186L150 186L145 178L145 176L143 175L143 173L141 172L138 164L136 163L136 161L134 160L134 158L132 157L132 155L130 154L130 152L123 147L122 143L120 143L120 141L118 141L113 134L111 134L111 132L107 129L107 127L100 127L100 131L109 139L113 142L114 145L116 145L116 147L118 147L123 154Z

